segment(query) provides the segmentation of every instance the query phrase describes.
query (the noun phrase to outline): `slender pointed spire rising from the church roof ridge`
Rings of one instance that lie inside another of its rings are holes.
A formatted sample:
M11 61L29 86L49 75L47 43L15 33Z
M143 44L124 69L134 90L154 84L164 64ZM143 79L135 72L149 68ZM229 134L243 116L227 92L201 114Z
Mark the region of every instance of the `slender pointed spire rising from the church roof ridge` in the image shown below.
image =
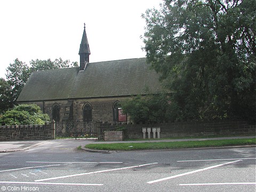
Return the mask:
M86 31L85 31L85 23L84 23L84 33L83 33L78 54L80 55L80 70L84 70L86 64L89 63L89 55L91 54Z

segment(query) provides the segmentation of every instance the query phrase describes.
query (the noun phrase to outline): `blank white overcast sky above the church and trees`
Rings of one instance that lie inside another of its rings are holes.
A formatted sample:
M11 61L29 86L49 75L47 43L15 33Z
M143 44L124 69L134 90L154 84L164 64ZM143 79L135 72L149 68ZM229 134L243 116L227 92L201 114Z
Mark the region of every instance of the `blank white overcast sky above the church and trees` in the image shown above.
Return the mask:
M141 14L162 0L0 1L0 77L16 58L79 62L84 22L90 62L145 57Z

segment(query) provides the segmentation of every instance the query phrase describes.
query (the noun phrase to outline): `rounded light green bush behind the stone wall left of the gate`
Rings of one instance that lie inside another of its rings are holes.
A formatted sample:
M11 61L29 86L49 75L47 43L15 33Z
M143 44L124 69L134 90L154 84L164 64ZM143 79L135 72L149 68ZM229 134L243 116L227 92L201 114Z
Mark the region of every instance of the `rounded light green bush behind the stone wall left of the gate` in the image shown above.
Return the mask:
M44 124L46 121L50 121L49 115L43 114L40 107L35 104L19 105L0 117L2 125L33 125Z

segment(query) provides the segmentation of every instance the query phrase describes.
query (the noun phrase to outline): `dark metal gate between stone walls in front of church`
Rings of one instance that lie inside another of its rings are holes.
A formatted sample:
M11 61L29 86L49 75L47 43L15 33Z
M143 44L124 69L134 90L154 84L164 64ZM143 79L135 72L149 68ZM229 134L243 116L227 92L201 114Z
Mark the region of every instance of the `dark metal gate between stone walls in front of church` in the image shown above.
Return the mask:
M97 138L97 123L75 120L55 123L55 138Z

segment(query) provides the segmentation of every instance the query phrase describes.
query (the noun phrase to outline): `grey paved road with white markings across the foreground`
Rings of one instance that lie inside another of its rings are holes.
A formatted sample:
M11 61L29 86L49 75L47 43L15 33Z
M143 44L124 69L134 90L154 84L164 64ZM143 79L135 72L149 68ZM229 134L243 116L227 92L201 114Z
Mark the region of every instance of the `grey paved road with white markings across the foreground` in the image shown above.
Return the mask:
M255 147L109 154L84 142L0 153L0 191L255 191Z

